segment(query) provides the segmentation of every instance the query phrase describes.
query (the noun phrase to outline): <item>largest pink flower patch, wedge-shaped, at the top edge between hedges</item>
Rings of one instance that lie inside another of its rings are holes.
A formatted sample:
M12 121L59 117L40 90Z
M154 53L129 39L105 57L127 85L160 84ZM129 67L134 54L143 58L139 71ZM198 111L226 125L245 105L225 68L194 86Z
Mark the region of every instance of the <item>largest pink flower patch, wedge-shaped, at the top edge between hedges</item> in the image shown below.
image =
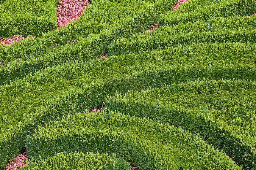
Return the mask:
M60 0L57 7L57 27L58 29L65 27L71 21L77 20L86 6L89 5L88 0Z

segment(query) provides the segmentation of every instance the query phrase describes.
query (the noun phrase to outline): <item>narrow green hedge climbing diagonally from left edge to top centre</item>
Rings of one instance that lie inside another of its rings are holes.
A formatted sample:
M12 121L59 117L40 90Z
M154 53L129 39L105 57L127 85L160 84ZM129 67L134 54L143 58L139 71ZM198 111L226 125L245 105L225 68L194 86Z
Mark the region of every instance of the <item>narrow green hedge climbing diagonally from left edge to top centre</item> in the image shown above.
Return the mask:
M165 1L158 1L159 4L164 2ZM165 5L168 5L168 3ZM162 12L165 12L169 10L170 7L165 5L159 7L158 4L146 4L144 6L145 9L141 9L141 11L138 9L140 12L137 11L134 16L121 19L120 22L113 25L109 31L102 30L98 34L90 34L86 38L76 37L71 39L71 41L78 41L74 45L68 45L65 47L61 47L60 45L58 48L48 51L47 54L43 54L42 56L39 55L39 53L41 53L40 50L42 50L40 45L33 47L31 44L24 44L30 47L31 52L27 53L24 52L24 50L19 49L19 54L22 55L21 61L12 61L8 63L8 65L0 68L0 74L3 76L3 79L0 80L0 85L7 83L10 80L13 81L16 79L16 77L21 79L30 73L34 74L40 69L44 69L48 66L54 66L59 63L65 63L71 60L86 61L91 58L99 58L101 55L108 53L108 46L113 42L114 39L118 39L121 36L130 36L138 31L149 28L149 23L157 20L156 17L158 15L156 15L156 11L159 12L159 10L162 10ZM154 15L152 15L151 10L153 10ZM73 27L70 28L73 29ZM66 29L66 27L64 29ZM53 35L51 35L51 38L49 36L45 38L49 39L51 42L54 42L52 36ZM22 41L21 43L33 43L39 41L42 41L42 38L38 40L30 39L28 41ZM17 43L16 45L19 44L20 43ZM36 55L37 51L38 55ZM11 54L13 54L13 52L11 52Z

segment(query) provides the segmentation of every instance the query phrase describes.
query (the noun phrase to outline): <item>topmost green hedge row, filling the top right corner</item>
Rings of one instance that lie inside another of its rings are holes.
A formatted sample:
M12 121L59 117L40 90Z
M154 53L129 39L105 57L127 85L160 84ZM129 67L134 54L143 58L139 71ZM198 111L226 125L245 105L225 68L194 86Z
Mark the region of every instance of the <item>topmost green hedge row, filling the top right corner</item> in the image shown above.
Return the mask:
M223 0L215 5L205 7L196 7L198 3L195 3L195 1L189 0L182 4L178 10L160 15L158 26L177 25L198 20L207 21L210 18L227 16L249 16L256 11L255 0Z

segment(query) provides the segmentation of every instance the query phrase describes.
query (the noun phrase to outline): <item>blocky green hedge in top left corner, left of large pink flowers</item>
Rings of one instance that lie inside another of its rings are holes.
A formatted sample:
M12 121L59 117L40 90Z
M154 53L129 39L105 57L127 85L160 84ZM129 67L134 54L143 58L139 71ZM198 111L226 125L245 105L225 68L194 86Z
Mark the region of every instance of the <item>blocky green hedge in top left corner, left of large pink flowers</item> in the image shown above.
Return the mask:
M0 5L0 37L40 36L57 28L56 0L5 0Z

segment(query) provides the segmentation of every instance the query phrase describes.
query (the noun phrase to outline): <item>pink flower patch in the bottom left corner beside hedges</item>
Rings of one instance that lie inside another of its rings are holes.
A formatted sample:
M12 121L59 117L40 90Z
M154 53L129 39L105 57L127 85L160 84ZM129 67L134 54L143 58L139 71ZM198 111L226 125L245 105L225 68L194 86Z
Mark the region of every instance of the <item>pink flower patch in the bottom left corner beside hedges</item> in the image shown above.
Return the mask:
M23 155L17 156L17 158L13 158L13 160L9 160L10 164L8 163L6 166L6 170L11 169L21 169L22 167L29 165L29 162L26 160L28 155L25 155L25 152Z

